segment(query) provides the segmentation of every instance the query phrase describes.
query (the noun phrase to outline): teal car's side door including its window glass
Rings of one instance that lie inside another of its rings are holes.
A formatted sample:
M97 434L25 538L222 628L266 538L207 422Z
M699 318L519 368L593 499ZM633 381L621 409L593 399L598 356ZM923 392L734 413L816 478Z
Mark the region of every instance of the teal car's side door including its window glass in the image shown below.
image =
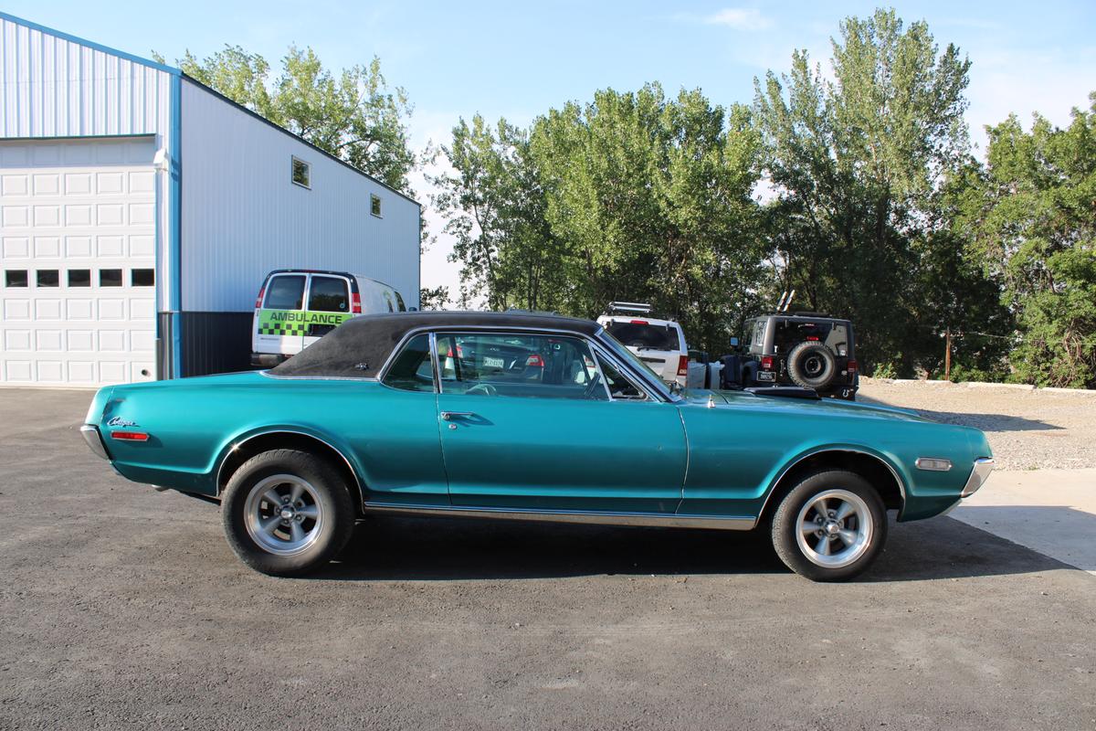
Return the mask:
M581 338L436 334L442 453L457 506L673 513L685 477L677 409L610 397Z

